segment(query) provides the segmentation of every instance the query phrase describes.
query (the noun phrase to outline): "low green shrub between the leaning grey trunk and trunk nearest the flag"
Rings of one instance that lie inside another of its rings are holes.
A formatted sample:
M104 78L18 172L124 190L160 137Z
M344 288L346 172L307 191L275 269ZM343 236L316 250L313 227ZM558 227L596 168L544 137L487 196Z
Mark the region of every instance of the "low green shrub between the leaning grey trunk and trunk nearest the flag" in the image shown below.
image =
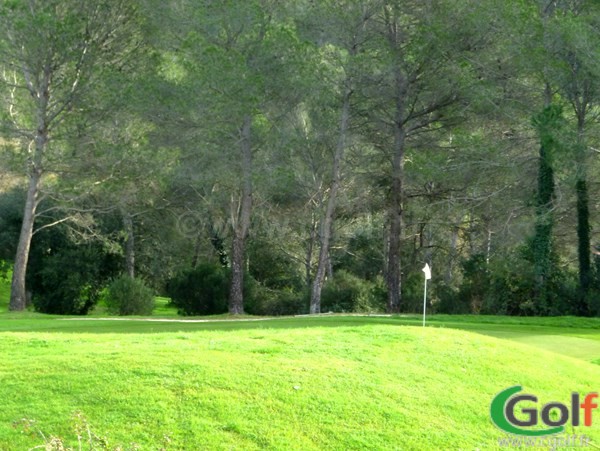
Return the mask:
M382 312L385 309L383 284L382 278L369 282L348 271L337 271L333 279L323 285L321 311Z

